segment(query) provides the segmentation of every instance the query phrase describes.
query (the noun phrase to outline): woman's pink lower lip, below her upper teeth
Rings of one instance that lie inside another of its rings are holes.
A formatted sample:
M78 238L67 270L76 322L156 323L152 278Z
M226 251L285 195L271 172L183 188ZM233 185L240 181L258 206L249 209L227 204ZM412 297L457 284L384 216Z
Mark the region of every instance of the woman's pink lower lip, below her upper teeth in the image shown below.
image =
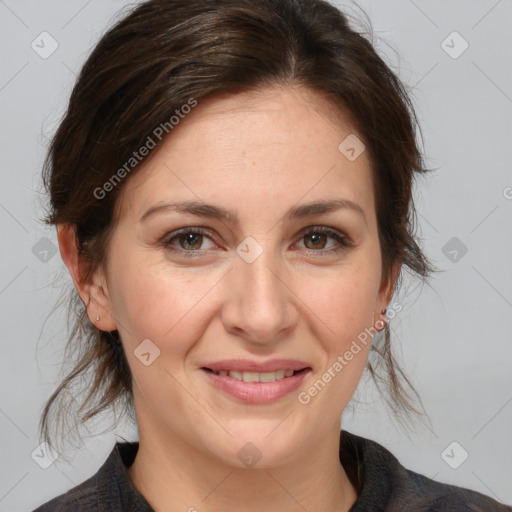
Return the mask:
M228 375L216 375L202 368L201 371L211 379L217 389L234 398L247 404L267 404L295 391L311 369L301 370L291 377L285 377L274 382L244 382Z

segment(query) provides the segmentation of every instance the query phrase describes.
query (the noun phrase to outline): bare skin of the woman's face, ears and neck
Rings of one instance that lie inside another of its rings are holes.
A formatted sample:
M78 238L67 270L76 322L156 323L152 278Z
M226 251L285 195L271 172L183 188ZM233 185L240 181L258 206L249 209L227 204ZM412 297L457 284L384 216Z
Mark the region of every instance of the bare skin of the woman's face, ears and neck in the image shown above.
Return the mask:
M352 133L348 115L307 89L203 100L127 178L108 259L88 282L79 278L72 229L59 226L91 321L121 335L140 436L128 473L156 511L346 511L355 502L338 455L340 418L370 343L308 404L298 401L382 321L400 269L382 279L368 152L349 161L338 150ZM353 201L364 216L343 208L285 218L292 207L330 199ZM238 223L177 212L140 220L183 200L232 210ZM198 226L209 234L192 247L172 239L192 257L165 246L177 229ZM310 226L337 230L352 245L305 235ZM252 263L236 252L248 236L263 249ZM145 366L134 350L148 338L160 356ZM208 361L281 357L312 371L270 404L241 403L199 370ZM237 456L248 442L261 453L250 468Z

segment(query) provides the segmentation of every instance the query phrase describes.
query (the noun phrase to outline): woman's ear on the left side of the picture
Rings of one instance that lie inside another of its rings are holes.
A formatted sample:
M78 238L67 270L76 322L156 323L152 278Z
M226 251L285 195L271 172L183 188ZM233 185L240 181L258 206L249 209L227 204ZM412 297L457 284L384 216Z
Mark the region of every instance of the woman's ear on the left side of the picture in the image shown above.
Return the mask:
M59 224L57 238L62 261L69 270L75 288L87 308L89 320L102 331L117 330L103 271L98 269L87 280L84 279L86 266L78 253L76 226Z

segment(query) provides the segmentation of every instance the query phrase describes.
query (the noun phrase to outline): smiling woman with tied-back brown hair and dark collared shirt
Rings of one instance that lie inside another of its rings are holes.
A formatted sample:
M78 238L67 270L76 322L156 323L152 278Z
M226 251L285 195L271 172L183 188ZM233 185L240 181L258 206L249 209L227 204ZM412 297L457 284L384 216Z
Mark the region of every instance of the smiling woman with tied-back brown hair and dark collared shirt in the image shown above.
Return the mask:
M38 511L511 510L340 434L367 366L414 410L386 320L433 270L415 126L323 1L150 0L105 34L45 167L83 306L42 431L92 370L80 421L124 403L139 442Z

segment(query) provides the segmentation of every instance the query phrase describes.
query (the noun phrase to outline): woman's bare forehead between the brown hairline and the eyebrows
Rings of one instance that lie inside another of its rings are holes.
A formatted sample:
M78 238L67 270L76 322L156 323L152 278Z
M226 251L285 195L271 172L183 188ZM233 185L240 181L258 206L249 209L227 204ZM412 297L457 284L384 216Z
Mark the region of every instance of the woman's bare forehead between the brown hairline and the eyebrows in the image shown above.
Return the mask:
M216 95L198 105L129 177L119 214L139 215L183 195L235 202L256 197L276 204L339 196L373 204L366 151L351 161L340 143L361 137L350 115L325 95L273 87Z

